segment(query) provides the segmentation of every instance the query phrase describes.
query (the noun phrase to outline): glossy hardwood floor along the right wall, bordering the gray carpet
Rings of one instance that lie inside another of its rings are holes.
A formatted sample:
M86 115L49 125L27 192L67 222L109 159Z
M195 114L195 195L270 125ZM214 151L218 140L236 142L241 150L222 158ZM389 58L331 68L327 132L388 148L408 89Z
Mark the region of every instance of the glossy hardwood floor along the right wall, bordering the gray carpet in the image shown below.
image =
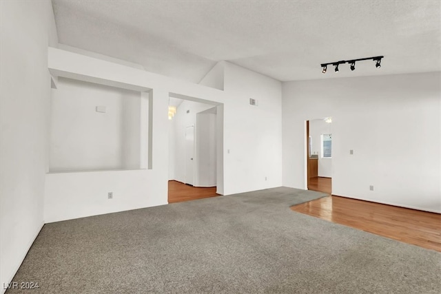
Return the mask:
M441 215L329 196L291 207L329 222L441 252Z

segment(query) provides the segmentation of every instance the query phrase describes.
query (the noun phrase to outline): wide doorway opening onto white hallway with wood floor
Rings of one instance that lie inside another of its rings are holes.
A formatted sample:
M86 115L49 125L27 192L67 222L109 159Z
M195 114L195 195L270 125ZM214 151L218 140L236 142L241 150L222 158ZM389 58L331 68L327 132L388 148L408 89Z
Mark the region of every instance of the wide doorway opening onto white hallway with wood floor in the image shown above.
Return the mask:
M170 93L168 202L223 194L223 105Z

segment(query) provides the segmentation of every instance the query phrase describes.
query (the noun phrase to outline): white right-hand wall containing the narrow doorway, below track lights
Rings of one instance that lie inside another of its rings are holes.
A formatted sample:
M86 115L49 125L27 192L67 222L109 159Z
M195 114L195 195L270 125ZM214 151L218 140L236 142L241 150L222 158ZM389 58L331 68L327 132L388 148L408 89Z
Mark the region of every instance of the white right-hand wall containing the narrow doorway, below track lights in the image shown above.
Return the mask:
M441 212L440 79L433 72L283 83L283 185L305 188L305 120L331 114L332 193Z

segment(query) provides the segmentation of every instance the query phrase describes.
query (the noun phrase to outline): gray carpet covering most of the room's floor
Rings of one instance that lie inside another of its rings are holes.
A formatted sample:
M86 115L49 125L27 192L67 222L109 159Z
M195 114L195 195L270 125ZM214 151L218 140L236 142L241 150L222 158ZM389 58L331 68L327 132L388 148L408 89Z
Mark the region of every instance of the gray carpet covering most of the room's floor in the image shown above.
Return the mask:
M441 253L289 209L322 196L280 187L45 224L14 282L39 282L25 293L441 293Z

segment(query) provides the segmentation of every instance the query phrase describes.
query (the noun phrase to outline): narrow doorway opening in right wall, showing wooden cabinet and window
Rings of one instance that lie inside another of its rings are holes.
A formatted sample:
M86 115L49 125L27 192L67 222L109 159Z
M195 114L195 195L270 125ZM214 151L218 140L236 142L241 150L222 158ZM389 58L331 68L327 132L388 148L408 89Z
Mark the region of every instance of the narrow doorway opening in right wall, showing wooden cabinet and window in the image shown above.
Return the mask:
M306 121L307 189L332 193L332 118Z

